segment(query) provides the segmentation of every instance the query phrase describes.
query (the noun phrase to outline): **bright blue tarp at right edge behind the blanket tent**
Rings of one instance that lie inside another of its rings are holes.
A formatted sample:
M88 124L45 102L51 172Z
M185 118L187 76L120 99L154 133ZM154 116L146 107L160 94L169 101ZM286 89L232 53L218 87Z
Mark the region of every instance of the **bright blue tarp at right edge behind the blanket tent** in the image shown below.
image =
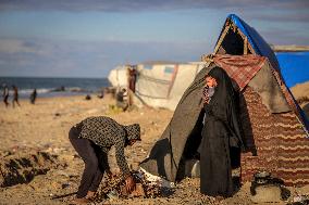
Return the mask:
M309 81L309 51L277 52L276 57L287 87Z

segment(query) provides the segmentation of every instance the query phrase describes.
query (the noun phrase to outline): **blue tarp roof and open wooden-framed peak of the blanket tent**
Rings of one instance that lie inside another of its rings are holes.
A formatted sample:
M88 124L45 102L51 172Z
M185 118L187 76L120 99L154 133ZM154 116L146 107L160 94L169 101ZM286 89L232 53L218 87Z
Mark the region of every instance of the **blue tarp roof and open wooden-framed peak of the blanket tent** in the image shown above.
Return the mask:
M285 84L277 59L269 43L265 42L265 40L257 33L255 28L250 27L235 14L230 14L226 17L215 43L214 53L232 55L257 54L265 56L268 57L272 67L277 71L277 75L280 75L281 80ZM202 61L207 61L207 57L208 55L202 55ZM300 115L300 120L302 124L305 124L307 129L309 129L309 121L304 111L298 106L287 87L285 88L284 94L287 99L294 101L294 105L298 110L297 113Z

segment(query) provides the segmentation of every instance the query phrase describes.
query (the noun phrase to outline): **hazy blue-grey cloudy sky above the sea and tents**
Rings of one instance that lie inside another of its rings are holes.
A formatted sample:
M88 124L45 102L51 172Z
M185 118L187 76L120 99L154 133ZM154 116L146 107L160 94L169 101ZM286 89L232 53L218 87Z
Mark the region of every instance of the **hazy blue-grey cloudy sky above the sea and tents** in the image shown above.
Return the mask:
M191 62L237 14L272 44L309 46L309 0L0 0L0 77L102 78Z

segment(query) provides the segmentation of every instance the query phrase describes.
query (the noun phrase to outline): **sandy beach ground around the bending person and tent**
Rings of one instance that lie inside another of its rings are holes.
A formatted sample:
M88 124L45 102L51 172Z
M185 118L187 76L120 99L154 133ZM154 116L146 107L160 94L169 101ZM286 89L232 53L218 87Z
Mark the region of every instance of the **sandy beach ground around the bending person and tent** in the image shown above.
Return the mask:
M297 99L305 99L300 105L307 115L308 90L309 82L292 89ZM35 105L21 100L21 106L15 108L5 108L1 103L0 113L1 174L10 171L10 163L11 169L21 165L25 167L24 176L15 172L11 176L15 181L0 188L0 204L69 204L73 195L52 197L72 193L78 187L84 164L71 146L67 132L82 119L104 115L124 125L140 124L143 141L125 151L128 164L136 169L173 115L171 111L150 107L121 112L114 108L112 98L98 99L95 95L89 101L85 97L38 98ZM112 170L118 171L113 150L110 154ZM168 197L107 200L99 204L251 204L249 187L250 183L245 183L233 197L218 201L199 194L199 179L185 179ZM309 193L308 185L289 189L292 197Z

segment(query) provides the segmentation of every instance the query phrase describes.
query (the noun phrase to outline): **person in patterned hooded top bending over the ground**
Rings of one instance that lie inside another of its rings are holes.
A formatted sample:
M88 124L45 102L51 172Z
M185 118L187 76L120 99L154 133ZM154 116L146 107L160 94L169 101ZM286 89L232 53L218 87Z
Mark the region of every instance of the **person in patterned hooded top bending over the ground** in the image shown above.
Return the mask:
M115 146L116 163L125 179L128 193L135 189L124 148L140 141L138 124L124 126L109 117L89 117L71 128L69 139L85 163L75 204L89 202L99 188L104 171L112 176L108 162L108 152L112 145Z

